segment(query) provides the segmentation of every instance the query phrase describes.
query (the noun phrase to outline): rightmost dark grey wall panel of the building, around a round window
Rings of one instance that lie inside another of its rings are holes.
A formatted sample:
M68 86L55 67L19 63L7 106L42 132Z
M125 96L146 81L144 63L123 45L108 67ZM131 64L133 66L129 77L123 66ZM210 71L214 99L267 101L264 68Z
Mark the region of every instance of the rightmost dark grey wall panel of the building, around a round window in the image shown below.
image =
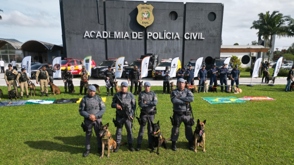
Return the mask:
M214 12L216 19L208 20L208 14ZM199 57L220 57L221 54L221 3L186 3L186 33L202 33L204 40L185 41L185 61ZM203 60L204 60L203 59Z

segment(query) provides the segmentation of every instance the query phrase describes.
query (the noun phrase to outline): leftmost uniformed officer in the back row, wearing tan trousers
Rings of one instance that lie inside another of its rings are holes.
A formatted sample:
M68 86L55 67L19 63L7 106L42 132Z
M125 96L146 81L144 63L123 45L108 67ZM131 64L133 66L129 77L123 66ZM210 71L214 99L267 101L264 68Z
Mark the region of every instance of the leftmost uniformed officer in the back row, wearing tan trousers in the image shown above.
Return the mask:
M11 85L16 91L16 96L18 96L18 91L17 91L17 84L15 81L15 76L17 75L17 71L12 69L12 65L8 64L8 70L5 70L4 72L4 79L7 84L7 91L9 92L11 90Z

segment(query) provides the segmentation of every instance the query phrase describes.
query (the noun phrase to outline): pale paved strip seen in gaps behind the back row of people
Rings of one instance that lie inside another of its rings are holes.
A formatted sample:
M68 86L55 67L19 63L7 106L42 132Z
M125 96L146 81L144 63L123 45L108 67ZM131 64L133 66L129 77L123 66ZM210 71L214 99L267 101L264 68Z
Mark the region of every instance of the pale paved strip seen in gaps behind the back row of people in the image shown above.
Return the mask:
M261 79L262 78L252 78L251 84L253 84L253 85L265 85L265 84L261 83ZM121 84L123 81L127 82L127 79L124 79L124 78L118 78L117 80L118 80L119 84ZM40 85L36 84L36 80L32 80L32 81L33 81L33 83L35 83L36 86L40 86ZM145 82L145 81L150 82L150 84L152 86L163 86L162 79L153 80L152 78L148 77L148 78L143 78L143 82ZM209 81L209 78L208 78L207 81ZM251 81L251 78L240 78L240 85L250 84L250 81ZM171 80L171 82L173 82L175 84L176 79L173 78ZM196 82L196 84L198 84L198 80L196 80L195 82ZM218 83L220 84L220 80L218 81ZM230 84L230 83L231 83L231 80L228 80L228 84ZM54 84L56 86L64 86L63 80L61 80L61 79L54 79ZM80 79L74 78L73 79L73 85L76 87L76 86L79 86L79 84L80 84ZM90 79L89 84L97 84L99 86L105 86L105 81L104 81L104 79ZM274 84L276 84L276 85L279 85L279 84L286 85L287 84L286 77L276 77ZM0 73L0 86L6 86L6 82L5 82L3 73Z

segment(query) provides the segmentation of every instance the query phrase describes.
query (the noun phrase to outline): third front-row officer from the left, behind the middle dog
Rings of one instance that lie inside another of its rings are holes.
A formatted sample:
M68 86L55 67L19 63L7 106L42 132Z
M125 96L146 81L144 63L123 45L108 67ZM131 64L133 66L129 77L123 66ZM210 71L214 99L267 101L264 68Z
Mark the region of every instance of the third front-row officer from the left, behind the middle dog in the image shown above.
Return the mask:
M137 138L137 148L136 151L140 151L141 148L141 143L145 131L145 126L147 124L147 134L148 134L148 143L149 143L149 148L153 148L153 137L152 137L152 127L150 125L150 121L154 121L154 116L157 113L156 111L156 105L157 105L157 95L155 92L150 91L151 84L149 82L144 83L144 89L145 91L142 91L139 94L138 98L138 104L141 109L141 114L139 120L141 121L140 124L140 130ZM149 119L147 117L147 114L149 116ZM148 123L147 123L148 122Z

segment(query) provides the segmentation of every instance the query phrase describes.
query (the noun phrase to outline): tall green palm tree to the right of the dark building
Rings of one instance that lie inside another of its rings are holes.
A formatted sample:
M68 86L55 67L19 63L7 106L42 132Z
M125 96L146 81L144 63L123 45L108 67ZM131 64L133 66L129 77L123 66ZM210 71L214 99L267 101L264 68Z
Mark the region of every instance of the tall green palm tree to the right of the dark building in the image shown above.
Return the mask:
M272 47L272 38L274 35L277 37L286 37L287 36L287 26L285 26L285 18L282 13L279 11L273 11L270 14L270 11L266 13L259 13L259 19L257 21L253 21L250 29L257 29L259 32L256 34L258 36L263 36L263 39L266 41L265 45L267 45L268 40L270 40L270 49ZM263 55L263 60L264 60ZM270 61L270 55L269 60Z

